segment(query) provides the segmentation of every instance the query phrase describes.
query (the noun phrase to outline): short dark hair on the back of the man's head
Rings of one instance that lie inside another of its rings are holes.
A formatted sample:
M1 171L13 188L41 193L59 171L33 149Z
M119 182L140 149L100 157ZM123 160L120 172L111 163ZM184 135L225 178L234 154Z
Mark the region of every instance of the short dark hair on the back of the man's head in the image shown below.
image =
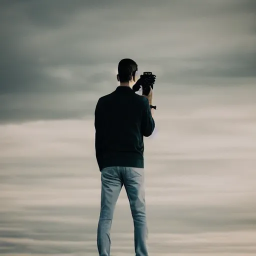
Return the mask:
M130 58L123 58L118 63L118 76L120 82L128 82L138 70L137 63Z

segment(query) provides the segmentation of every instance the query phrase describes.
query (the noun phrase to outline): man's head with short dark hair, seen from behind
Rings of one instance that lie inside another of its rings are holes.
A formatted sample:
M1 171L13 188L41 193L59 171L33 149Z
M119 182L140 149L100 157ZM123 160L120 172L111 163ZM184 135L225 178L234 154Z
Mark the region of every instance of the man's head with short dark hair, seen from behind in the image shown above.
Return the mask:
M134 60L123 58L118 63L117 80L120 85L132 86L136 81L136 71L138 67Z

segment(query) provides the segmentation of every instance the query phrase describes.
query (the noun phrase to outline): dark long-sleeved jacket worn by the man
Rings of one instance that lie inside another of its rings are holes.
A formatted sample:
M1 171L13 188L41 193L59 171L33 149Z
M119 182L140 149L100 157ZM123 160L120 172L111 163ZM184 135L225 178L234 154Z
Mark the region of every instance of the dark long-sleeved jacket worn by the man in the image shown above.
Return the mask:
M150 136L155 127L148 99L130 87L117 86L98 99L94 118L99 170L109 166L143 168L143 136Z

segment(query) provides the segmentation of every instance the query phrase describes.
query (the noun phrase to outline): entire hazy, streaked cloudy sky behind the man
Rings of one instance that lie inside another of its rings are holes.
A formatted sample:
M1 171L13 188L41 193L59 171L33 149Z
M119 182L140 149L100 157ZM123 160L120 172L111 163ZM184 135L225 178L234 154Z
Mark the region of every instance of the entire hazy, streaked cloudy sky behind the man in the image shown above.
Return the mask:
M0 254L97 255L97 99L157 75L150 255L256 254L254 0L0 0ZM112 255L133 252L122 190ZM30 253L30 254L29 254Z

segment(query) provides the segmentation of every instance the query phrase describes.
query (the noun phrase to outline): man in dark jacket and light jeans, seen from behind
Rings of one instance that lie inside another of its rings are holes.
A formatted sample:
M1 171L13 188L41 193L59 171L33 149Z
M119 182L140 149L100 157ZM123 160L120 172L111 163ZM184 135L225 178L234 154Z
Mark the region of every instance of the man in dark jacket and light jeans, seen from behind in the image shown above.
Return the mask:
M122 185L129 199L134 224L136 256L147 256L147 223L144 195L143 136L154 130L152 89L148 96L132 90L137 64L122 59L116 89L98 99L95 107L95 152L101 171L101 207L97 228L99 256L109 256L110 228Z

